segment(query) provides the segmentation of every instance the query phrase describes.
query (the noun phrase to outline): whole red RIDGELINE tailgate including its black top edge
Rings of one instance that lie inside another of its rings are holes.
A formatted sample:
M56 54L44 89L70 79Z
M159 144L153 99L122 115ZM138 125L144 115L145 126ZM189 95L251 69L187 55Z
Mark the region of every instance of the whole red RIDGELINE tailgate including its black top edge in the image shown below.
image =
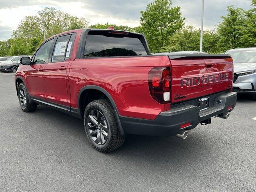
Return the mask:
M231 89L233 61L230 55L169 55L172 103Z

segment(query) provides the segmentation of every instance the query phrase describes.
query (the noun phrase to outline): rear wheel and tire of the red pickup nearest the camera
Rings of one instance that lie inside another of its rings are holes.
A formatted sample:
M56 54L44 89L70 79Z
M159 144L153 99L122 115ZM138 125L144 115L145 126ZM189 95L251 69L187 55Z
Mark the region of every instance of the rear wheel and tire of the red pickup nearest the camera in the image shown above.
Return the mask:
M86 106L84 129L91 145L100 152L116 150L125 140L120 134L114 109L107 99L95 100Z

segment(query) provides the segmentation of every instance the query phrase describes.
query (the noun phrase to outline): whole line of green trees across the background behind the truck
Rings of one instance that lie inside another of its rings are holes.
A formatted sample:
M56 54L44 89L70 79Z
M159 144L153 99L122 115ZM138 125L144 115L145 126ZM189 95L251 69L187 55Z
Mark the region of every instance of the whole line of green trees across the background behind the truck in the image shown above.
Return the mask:
M203 34L203 51L223 53L231 48L256 47L256 0L251 0L250 10L228 6L227 14L216 30L206 30ZM32 54L46 38L60 32L77 28L107 29L139 32L146 36L151 52L199 51L200 29L184 27L180 7L172 7L172 0L154 0L141 11L140 26L93 24L88 26L85 18L71 16L55 8L44 8L34 16L22 20L12 38L0 41L0 56Z

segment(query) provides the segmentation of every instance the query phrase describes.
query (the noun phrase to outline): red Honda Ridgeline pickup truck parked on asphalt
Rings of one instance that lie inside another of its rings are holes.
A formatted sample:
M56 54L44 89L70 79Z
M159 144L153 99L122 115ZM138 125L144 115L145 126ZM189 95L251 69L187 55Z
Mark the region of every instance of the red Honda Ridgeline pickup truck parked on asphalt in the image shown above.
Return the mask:
M236 105L230 55L151 55L142 34L78 29L48 38L22 57L20 107L38 104L84 120L92 146L120 147L129 134L186 138Z

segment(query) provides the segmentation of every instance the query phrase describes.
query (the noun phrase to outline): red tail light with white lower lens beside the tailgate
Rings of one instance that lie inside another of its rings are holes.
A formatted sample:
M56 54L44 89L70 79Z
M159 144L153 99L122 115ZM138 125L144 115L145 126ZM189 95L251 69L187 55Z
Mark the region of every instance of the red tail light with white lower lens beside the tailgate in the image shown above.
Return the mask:
M148 85L151 96L159 103L170 102L170 68L155 67L148 73Z

